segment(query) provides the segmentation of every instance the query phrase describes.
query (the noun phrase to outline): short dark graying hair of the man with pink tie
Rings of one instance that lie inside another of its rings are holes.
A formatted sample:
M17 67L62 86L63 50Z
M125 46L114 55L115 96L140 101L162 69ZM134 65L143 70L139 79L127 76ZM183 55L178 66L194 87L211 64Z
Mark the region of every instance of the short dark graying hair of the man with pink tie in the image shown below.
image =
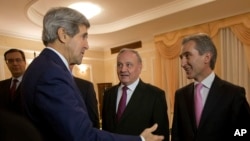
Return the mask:
M210 68L213 70L216 63L217 50L212 39L205 33L198 33L185 37L182 41L182 45L189 41L194 41L196 43L195 48L198 50L200 55L203 55L207 52L212 54Z

